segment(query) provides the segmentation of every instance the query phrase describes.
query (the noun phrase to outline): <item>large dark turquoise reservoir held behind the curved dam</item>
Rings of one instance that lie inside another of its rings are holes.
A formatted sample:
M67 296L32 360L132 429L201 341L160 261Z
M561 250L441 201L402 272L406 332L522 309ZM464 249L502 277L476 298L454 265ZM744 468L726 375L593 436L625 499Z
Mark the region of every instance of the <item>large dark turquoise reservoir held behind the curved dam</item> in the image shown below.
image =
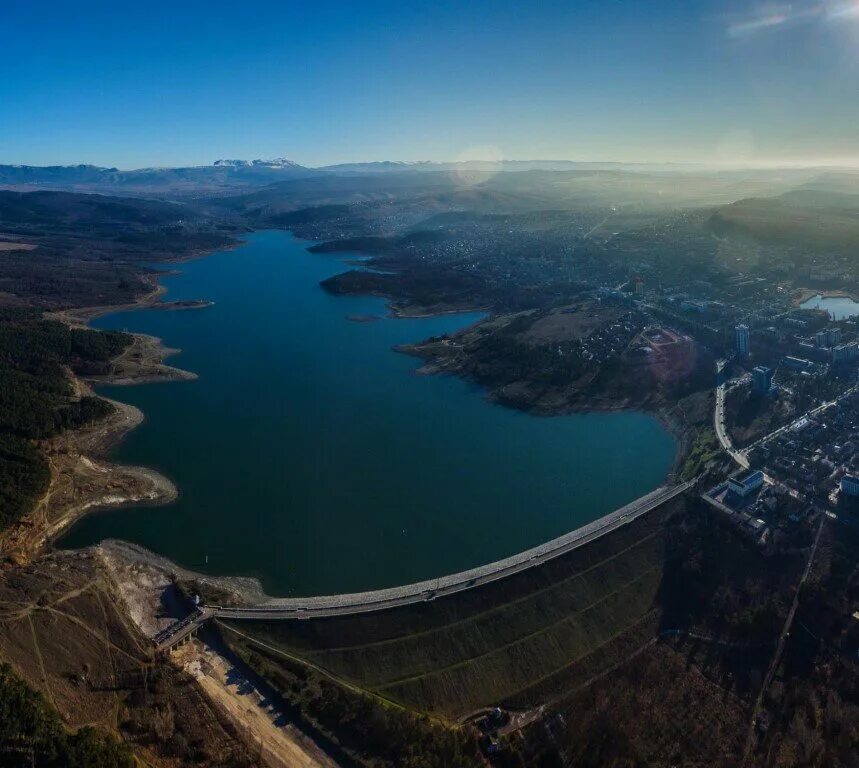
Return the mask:
M307 245L254 233L164 280L168 299L213 307L95 323L162 337L199 379L100 390L146 414L115 458L159 469L180 498L90 515L64 546L121 538L276 594L354 591L496 560L663 481L675 442L651 416L539 418L416 375L394 344L480 315L352 322L384 302L325 293L344 265Z

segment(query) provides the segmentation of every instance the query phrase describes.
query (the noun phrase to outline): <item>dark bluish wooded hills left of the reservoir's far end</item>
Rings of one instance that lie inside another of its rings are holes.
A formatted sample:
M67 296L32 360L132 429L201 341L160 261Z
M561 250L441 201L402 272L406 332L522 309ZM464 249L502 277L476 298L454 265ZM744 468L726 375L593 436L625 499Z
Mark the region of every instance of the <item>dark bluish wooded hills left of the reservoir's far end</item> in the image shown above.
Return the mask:
M189 205L0 190L0 305L127 304L154 288L135 261L187 258L229 245L234 231Z

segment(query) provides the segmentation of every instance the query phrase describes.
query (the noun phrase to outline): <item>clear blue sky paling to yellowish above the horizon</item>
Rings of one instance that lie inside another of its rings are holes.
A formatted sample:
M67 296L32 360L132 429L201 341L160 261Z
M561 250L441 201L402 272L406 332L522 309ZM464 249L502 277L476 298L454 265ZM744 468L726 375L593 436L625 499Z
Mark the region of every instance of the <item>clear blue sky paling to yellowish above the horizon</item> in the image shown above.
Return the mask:
M0 34L0 163L859 162L859 0L13 0Z

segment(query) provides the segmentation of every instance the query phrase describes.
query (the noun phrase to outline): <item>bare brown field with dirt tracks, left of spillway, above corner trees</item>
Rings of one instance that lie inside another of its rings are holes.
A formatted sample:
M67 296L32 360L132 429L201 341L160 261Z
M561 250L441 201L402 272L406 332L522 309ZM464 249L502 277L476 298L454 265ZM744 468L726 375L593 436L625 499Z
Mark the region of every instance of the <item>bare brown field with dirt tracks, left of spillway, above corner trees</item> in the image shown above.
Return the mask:
M70 728L119 734L148 765L223 765L247 751L190 675L153 659L97 554L0 573L0 658Z

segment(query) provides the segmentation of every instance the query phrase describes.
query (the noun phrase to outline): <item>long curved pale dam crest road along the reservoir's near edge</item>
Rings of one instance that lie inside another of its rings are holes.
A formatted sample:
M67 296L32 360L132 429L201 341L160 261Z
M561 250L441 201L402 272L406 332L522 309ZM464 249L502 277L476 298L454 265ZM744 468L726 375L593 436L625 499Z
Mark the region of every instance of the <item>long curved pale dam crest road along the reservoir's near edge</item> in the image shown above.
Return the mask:
M153 641L158 650L169 650L187 641L203 624L213 618L271 621L346 616L426 602L467 589L474 589L520 573L528 568L534 568L595 541L685 493L696 483L697 478L678 485L657 488L646 496L642 496L575 531L478 568L442 576L438 579L372 592L356 592L325 597L276 598L262 605L245 607L200 606L181 621L177 621L159 632Z

